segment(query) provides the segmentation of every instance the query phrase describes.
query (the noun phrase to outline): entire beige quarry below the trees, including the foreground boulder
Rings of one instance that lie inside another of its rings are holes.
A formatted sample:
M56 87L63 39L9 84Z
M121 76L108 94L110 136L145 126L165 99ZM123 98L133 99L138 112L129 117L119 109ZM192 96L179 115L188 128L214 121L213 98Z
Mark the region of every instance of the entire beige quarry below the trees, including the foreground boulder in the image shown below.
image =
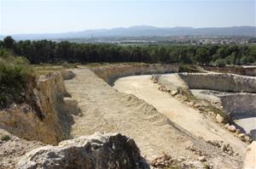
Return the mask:
M228 71L54 70L0 110L0 168L255 168L255 70Z

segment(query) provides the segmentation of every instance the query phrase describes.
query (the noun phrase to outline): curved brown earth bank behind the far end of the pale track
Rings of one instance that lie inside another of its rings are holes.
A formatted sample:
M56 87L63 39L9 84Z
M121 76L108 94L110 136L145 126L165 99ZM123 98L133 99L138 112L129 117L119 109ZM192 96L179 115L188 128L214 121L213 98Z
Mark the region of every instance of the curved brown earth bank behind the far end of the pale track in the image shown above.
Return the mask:
M172 73L178 72L179 68L178 65L137 64L97 67L91 70L109 85L113 85L113 82L119 77Z

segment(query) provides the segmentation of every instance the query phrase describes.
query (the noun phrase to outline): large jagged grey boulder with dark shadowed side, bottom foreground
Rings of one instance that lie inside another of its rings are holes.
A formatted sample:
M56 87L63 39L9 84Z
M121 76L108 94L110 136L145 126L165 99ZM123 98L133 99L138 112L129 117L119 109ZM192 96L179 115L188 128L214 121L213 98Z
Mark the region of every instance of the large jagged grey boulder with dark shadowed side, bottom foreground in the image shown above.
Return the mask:
M149 168L134 140L119 133L99 133L44 146L24 155L16 165L34 168Z

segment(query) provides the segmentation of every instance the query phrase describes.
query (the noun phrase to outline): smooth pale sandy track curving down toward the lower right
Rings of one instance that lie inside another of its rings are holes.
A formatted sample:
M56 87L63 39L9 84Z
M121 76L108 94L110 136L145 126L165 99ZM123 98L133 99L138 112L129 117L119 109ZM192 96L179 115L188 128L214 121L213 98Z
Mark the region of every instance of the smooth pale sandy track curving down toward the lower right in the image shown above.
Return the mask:
M183 104L170 94L158 90L159 85L149 79L150 76L128 76L120 78L114 83L119 92L136 95L148 104L154 105L156 110L166 115L171 121L205 140L222 140L231 144L240 154L245 153L246 144L235 138L232 133L207 116L201 115L199 110ZM169 76L171 81L172 76ZM175 79L177 81L177 79Z

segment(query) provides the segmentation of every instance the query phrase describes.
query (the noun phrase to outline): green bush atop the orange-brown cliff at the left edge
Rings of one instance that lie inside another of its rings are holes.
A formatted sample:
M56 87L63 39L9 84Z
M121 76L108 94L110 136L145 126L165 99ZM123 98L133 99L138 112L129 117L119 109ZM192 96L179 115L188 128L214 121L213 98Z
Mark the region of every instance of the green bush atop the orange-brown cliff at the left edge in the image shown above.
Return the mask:
M34 71L22 57L0 56L0 107L25 99L26 83Z

